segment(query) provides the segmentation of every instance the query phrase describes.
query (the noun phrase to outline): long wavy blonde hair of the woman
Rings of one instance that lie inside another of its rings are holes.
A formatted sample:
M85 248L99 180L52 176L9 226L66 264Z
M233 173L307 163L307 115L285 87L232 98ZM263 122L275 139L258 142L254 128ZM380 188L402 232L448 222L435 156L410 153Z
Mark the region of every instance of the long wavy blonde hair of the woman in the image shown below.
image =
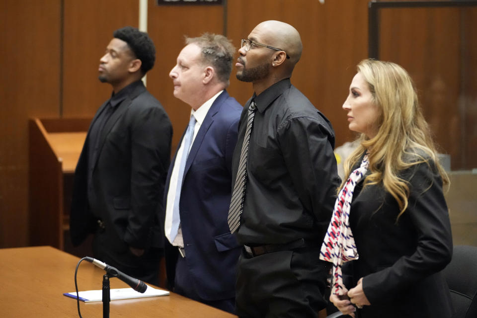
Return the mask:
M364 186L383 183L384 188L397 201L400 212L408 205L408 182L398 176L399 172L422 162L434 161L443 183L449 178L436 156L436 148L431 138L429 126L422 115L417 93L412 79L399 65L391 62L363 60L357 66L373 95L373 102L380 109L379 130L369 139L364 134L359 137L358 148L344 163L345 175L369 150L371 172ZM344 186L346 179L340 186Z

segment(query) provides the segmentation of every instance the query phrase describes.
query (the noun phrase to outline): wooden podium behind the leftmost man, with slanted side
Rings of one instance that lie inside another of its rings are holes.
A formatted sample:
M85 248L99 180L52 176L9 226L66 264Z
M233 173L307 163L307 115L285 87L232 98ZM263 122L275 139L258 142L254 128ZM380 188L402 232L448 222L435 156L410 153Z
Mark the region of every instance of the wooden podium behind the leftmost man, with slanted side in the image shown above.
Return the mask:
M29 120L30 245L50 245L61 250L71 246L66 234L73 176L91 120Z

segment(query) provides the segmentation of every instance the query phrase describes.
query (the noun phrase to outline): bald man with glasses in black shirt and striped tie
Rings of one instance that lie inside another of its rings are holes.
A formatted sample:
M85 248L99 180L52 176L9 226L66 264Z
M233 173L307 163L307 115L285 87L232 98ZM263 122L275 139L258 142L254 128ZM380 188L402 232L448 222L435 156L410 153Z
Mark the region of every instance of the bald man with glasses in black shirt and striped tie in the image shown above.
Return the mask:
M233 195L229 212L244 245L236 284L239 317L317 317L326 306L331 264L319 260L319 250L339 177L331 124L290 82L301 52L298 31L279 21L258 24L239 50L237 78L254 89L240 119L233 159L239 198ZM250 104L256 110L249 111ZM252 113L242 187L239 160Z

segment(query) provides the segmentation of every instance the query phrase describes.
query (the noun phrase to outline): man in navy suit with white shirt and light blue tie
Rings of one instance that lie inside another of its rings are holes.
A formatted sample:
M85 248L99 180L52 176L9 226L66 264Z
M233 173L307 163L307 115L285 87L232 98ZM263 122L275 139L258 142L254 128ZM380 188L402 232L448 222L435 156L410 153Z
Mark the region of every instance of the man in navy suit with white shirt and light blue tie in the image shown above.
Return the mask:
M192 108L190 128L172 159L164 192L169 287L231 313L240 247L227 216L242 110L225 90L234 54L222 35L186 39L169 76L174 96Z

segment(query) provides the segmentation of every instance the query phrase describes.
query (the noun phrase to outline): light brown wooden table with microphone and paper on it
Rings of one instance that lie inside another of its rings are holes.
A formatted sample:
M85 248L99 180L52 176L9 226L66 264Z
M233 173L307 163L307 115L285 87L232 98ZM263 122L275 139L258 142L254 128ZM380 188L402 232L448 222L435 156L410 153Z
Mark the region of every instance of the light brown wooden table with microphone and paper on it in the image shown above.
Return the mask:
M63 293L75 291L75 268L79 258L50 246L0 249L0 317L79 317L75 299ZM78 269L79 290L102 288L104 270L82 261ZM111 278L111 288L129 287ZM101 318L102 302L79 302L81 316ZM111 318L232 318L221 310L170 293L142 299L111 301Z

